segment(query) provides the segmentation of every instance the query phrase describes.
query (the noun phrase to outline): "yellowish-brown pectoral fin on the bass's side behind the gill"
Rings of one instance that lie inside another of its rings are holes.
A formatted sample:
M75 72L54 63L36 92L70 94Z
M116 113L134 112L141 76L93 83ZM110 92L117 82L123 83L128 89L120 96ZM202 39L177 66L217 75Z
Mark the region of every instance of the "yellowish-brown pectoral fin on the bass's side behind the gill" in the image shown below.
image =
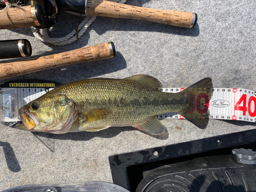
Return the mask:
M94 109L88 113L79 115L80 118L83 118L83 122L92 122L108 117L112 111L109 108L98 108Z

